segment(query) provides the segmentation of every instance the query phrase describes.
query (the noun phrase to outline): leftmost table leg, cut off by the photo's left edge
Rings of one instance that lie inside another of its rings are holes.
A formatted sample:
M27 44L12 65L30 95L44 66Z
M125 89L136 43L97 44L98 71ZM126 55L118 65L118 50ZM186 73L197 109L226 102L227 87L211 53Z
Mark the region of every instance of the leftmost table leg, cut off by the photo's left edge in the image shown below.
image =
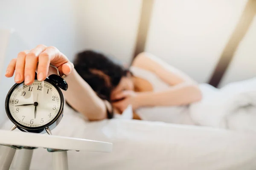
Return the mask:
M8 146L0 147L0 170L9 170L16 149Z

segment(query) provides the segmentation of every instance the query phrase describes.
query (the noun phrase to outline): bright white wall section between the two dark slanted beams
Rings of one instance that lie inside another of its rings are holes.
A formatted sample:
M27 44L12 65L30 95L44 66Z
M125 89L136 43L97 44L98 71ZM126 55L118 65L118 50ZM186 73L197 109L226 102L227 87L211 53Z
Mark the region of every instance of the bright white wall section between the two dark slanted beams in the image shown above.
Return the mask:
M198 82L208 82L245 3L246 0L156 0L146 51ZM252 34L255 37L255 31ZM247 44L253 43L253 37ZM241 51L248 48L243 45ZM232 77L243 79L244 74L247 72Z

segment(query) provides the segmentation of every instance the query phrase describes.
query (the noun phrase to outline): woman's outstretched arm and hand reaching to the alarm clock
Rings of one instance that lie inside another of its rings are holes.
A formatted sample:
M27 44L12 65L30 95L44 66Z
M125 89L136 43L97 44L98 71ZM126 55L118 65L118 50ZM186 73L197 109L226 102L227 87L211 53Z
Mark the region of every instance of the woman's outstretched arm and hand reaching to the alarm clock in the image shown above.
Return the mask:
M100 99L93 89L73 69L73 64L55 47L38 45L32 50L22 51L16 59L12 59L6 69L6 77L15 73L15 82L25 82L31 85L35 79L35 70L38 63L38 80L43 81L49 72L49 64L55 65L61 74L67 75L68 90L63 91L65 99L74 109L82 113L89 120L105 119L106 105L110 104Z

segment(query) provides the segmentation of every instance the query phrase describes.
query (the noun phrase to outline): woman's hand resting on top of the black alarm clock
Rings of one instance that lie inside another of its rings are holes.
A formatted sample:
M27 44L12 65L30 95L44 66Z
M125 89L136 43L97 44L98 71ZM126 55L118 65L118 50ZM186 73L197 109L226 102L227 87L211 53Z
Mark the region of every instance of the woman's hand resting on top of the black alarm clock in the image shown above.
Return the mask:
M62 54L56 47L38 45L32 50L22 51L17 58L12 59L6 69L6 77L12 77L15 72L15 82L25 80L30 85L35 79L35 70L38 63L38 80L46 79L50 63L55 65L61 74L68 75L73 71L73 63Z

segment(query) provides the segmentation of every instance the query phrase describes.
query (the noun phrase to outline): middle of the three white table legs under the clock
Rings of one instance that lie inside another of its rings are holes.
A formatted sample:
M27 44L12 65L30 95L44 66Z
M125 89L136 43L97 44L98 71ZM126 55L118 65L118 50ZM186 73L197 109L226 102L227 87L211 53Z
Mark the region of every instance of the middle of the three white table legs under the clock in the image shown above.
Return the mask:
M18 153L18 159L15 167L19 167L19 170L29 170L32 155L33 149L20 150Z

